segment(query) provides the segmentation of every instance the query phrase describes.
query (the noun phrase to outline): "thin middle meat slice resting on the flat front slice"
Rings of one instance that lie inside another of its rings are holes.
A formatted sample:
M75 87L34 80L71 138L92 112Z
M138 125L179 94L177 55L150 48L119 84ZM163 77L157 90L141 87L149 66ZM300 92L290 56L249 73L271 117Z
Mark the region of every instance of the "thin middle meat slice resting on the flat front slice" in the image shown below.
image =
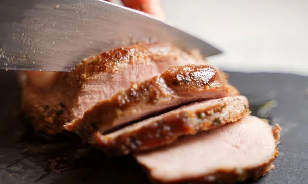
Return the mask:
M249 113L245 96L224 97L192 103L157 117L132 124L118 131L96 134L96 146L108 154L128 154L174 142L178 136L195 134Z

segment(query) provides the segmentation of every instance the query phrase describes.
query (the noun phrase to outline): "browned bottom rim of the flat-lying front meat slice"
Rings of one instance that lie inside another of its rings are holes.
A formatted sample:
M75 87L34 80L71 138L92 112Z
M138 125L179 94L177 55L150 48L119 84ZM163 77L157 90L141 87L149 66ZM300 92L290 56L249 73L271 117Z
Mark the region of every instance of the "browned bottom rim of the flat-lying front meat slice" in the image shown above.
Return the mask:
M278 144L280 141L280 131L281 128L278 124L275 125L275 127L272 129L273 137ZM271 171L272 169L275 168L273 165L274 160L278 157L279 151L278 147L276 145L275 151L273 153L273 156L271 159L268 160L268 162L265 162L263 164L260 164L256 167L249 167L249 168L244 168L241 171L239 170L224 170L220 169L212 174L208 174L205 176L200 176L196 178L187 178L183 180L178 180L174 182L162 182L159 180L152 180L153 183L226 183L226 184L231 184L231 183L236 183L236 182L243 182L248 179L254 179L257 180L259 177L264 176L267 172ZM142 165L142 164L141 164ZM149 174L150 169L146 168L147 174ZM149 176L149 178L151 178Z

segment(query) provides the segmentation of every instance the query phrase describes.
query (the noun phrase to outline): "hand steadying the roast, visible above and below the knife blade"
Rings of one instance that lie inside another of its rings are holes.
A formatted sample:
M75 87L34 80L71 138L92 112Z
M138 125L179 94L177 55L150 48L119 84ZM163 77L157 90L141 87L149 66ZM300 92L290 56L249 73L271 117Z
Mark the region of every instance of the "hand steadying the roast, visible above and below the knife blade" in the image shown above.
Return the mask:
M108 0L109 2L112 2ZM122 0L124 6L143 11L164 20L164 14L159 0ZM37 88L46 89L52 86L59 72L26 71L29 82Z

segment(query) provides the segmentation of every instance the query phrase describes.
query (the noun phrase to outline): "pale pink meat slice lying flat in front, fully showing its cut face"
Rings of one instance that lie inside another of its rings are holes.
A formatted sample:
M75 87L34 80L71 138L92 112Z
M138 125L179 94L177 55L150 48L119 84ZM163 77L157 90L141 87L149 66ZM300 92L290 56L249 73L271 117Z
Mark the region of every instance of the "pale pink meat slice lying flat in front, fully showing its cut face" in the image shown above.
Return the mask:
M134 156L159 183L234 183L256 179L274 168L279 132L278 125L272 130L265 121L246 116Z

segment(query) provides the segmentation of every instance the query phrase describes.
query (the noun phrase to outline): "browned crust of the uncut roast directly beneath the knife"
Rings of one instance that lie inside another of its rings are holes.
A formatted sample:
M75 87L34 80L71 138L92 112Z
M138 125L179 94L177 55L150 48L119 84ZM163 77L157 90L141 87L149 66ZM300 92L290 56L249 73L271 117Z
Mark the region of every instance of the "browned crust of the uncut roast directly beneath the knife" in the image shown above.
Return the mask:
M165 43L139 44L114 49L98 56L83 60L72 72L59 72L54 86L44 91L33 86L21 72L18 78L22 86L21 112L30 118L30 122L38 131L47 134L62 133L65 122L71 121L70 114L78 91L86 79L102 72L117 73L123 63L137 63L139 59L162 55L174 55L195 59L200 63L205 61L197 52L186 53ZM156 62L156 61L155 61ZM75 91L69 97L66 91ZM48 107L48 108L47 108Z

